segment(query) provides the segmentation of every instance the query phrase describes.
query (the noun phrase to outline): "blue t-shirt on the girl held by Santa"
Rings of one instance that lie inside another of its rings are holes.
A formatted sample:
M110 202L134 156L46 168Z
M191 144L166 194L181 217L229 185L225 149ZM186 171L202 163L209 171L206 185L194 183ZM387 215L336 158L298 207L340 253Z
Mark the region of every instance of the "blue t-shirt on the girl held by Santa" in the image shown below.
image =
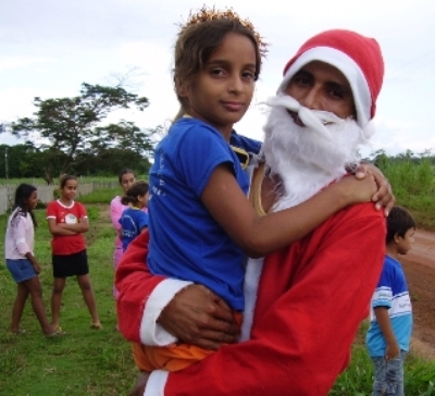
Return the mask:
M220 164L228 164L247 194L236 154L209 124L182 119L158 145L149 177L148 265L153 274L203 284L243 310L244 253L200 199Z

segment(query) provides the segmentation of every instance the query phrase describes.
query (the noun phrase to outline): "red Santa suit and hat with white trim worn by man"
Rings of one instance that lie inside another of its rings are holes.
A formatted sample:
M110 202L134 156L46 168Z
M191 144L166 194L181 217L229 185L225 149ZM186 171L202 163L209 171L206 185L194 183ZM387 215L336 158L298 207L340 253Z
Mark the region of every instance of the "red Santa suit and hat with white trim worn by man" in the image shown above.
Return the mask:
M383 77L377 44L347 30L320 34L287 64L285 82L313 59L333 60L345 74L357 122L365 128ZM136 238L117 269L119 324L132 342L167 345L175 339L157 319L190 283L152 276L146 265L147 243L147 233ZM327 395L349 362L384 255L383 213L368 202L340 210L285 249L250 259L241 342L222 346L185 370L153 371L145 395Z

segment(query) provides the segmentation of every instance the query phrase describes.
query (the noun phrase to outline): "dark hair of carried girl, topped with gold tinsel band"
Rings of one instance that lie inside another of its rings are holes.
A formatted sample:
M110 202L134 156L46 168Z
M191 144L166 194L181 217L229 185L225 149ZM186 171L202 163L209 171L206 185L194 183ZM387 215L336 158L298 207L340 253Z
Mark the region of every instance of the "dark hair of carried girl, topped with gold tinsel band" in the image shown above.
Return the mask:
M174 86L182 106L175 121L186 112L188 104L181 97L179 90L192 82L228 33L243 35L252 42L256 50L254 77L256 81L258 79L261 71L261 57L266 50L265 44L253 30L253 26L249 21L241 21L233 11L219 12L214 9L203 8L198 14L190 16L189 23L182 28L175 44Z

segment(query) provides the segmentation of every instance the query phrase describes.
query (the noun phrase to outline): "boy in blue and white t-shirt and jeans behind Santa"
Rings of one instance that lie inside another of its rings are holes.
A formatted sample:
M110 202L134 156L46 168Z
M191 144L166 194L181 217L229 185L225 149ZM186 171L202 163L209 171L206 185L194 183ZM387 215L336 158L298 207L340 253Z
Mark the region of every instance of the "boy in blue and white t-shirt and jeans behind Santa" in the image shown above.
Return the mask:
M403 361L412 332L412 307L399 255L414 242L415 221L401 207L387 218L386 256L374 292L366 346L374 364L373 395L403 395Z

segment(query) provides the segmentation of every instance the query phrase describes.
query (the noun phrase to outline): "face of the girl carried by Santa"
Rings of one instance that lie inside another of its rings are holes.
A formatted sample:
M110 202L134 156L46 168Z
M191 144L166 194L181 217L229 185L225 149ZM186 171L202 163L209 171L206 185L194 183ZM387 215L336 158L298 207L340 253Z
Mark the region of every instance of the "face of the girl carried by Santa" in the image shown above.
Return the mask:
M178 89L186 99L188 113L229 140L234 123L244 116L252 99L256 60L251 40L228 33L194 81Z

